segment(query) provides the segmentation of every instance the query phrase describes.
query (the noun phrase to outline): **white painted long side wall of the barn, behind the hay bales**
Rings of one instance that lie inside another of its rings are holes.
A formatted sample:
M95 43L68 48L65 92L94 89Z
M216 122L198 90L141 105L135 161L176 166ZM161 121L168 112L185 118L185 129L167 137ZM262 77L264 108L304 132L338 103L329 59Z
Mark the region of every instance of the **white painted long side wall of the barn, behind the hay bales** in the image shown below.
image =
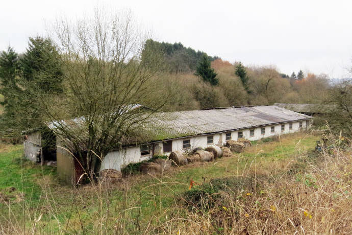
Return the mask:
M306 129L306 121L301 121L302 122L302 130ZM310 121L308 128L310 128L312 121ZM292 123L292 129L289 129L289 123L283 124L285 125L285 131L281 131L281 124L279 125L274 125L275 126L275 131L274 133L270 132L271 126L265 126L265 134L261 134L261 127L253 128L255 131L254 136L249 136L249 131L252 129L244 129L240 130L243 132L243 137L249 140L258 140L263 137L270 137L273 135L280 135L280 134L288 134L288 133L293 133L296 131L299 131L299 122L293 122ZM231 132L231 139L237 140L237 135L239 131L232 131ZM213 144L207 144L207 136L210 135L198 135L198 136L193 136L193 137L186 137L186 138L180 138L180 139L174 139L172 140L172 151L183 151L183 140L189 139L190 144L191 144L191 149L194 149L196 147L201 147L201 148L207 148L208 146L213 146L213 145L224 145L226 143L226 133L218 133L218 134L213 134ZM156 143L154 144L154 147L159 147L159 150L161 148L161 153L163 153L163 145L161 143ZM163 153L166 155L169 155L170 152L168 153ZM115 169L117 171L121 171L121 168L124 166L127 166L131 162L139 162L143 160L147 160L152 155L144 155L141 156L139 146L134 146L134 147L128 147L125 148L121 151L114 151L110 152L106 155L106 157L103 159L102 166L100 167L100 171L105 170L105 169Z

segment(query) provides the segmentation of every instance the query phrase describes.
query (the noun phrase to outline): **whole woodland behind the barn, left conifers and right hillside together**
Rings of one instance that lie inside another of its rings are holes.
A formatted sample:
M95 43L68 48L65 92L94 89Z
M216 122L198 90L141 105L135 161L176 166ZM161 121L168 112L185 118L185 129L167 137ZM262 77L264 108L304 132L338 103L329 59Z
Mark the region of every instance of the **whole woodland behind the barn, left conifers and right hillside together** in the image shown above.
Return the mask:
M192 110L211 107L266 105L274 103L331 103L331 83L327 75L304 74L297 71L291 76L281 74L273 65L244 66L230 63L217 56L186 48L182 43L146 40L141 60L146 51L158 52L162 64L158 67L160 96L165 97L164 111ZM61 57L54 42L48 38L30 38L28 49L18 55L14 49L3 51L0 56L0 94L4 96L2 128L11 128L19 121L24 126L38 123L26 116L40 115L34 109L33 100L26 93L30 84L40 87L40 92L60 93L65 84L62 76L67 71L61 66ZM93 61L93 59L92 59ZM140 103L143 103L141 100ZM148 103L144 103L148 106Z

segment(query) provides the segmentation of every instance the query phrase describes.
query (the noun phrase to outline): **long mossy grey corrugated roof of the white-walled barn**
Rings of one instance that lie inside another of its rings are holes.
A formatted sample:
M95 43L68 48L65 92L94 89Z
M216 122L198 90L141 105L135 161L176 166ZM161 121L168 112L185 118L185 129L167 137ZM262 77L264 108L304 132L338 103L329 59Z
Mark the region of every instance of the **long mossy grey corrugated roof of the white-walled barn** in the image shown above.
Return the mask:
M232 107L158 113L150 120L148 128L159 134L155 140L162 140L310 118L277 106Z

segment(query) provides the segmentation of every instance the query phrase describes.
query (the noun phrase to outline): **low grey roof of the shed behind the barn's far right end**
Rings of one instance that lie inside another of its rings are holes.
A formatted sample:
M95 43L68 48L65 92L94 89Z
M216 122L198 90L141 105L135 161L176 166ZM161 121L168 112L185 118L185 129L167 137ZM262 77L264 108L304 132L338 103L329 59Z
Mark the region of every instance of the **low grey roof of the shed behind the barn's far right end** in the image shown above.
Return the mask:
M275 106L286 108L295 112L305 113L329 113L336 109L336 105L322 105L322 104L285 104L275 103Z

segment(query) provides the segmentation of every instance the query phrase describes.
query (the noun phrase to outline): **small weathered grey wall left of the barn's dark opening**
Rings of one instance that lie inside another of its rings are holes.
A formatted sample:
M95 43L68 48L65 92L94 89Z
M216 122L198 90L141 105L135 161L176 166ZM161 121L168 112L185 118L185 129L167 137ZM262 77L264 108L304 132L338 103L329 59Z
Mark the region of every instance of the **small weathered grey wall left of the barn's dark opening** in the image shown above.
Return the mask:
M40 131L36 131L27 135L27 139L23 142L24 156L31 161L38 161L42 151Z

